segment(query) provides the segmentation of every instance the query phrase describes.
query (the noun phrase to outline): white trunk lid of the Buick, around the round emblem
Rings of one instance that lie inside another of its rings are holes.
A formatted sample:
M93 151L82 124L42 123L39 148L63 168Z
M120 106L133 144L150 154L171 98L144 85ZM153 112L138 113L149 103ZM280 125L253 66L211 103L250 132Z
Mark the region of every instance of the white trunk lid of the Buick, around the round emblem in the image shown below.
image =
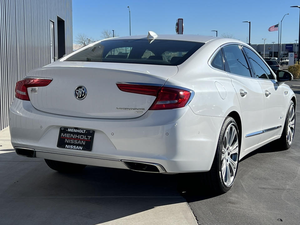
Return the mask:
M177 69L172 67L164 76L173 76ZM157 68L156 68L157 69ZM146 83L163 86L166 78L149 73L137 73L103 68L47 67L32 71L28 76L53 78L46 87L38 87L38 93L31 93L32 105L43 112L85 118L136 118L137 110L117 108L144 108L145 113L155 100L155 96L128 93L119 90L116 83ZM74 79L75 78L75 79ZM75 89L84 86L87 96L78 100ZM91 107L93 106L93 107Z

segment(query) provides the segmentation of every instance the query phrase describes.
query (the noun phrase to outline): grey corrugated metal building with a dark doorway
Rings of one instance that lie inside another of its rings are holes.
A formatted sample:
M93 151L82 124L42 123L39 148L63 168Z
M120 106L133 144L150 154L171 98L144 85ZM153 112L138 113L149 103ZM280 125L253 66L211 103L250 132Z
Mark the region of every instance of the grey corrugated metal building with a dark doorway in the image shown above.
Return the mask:
M0 130L16 82L72 51L72 0L0 0Z

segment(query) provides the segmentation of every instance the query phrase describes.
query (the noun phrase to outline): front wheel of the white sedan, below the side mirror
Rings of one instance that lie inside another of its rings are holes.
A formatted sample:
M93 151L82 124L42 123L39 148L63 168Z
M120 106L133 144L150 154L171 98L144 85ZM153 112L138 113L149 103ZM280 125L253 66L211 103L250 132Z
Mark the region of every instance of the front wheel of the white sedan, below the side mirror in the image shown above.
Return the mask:
M291 147L295 134L295 113L295 104L291 101L287 108L287 116L285 118L281 137L270 143L271 148L276 150L287 150Z

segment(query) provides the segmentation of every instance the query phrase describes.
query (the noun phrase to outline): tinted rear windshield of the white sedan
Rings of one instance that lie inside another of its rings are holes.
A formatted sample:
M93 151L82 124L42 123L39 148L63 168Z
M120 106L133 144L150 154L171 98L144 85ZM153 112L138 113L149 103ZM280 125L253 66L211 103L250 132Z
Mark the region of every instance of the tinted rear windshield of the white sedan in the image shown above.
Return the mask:
M106 40L78 51L65 61L138 63L177 66L204 43L176 40Z

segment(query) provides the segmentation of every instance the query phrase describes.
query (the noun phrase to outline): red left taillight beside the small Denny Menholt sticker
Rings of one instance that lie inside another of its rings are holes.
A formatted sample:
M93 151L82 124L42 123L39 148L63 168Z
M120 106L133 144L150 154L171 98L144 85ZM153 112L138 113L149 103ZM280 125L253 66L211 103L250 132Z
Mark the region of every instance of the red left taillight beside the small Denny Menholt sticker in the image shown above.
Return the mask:
M30 101L27 88L30 87L44 87L51 83L52 79L47 78L25 78L16 84L15 93L16 98Z

